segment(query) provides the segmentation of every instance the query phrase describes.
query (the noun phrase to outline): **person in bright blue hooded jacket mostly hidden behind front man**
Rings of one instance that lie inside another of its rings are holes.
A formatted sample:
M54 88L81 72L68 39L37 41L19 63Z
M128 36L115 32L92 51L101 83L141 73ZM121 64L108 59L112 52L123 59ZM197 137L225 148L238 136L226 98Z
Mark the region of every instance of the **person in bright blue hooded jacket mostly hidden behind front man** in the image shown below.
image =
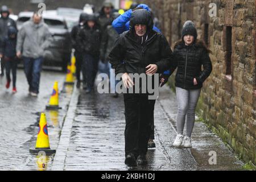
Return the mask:
M150 11L150 8L147 5L145 5L145 4L138 5L136 9L145 9L147 11ZM130 10L126 11L124 14L120 15L117 19L115 19L113 21L112 26L118 32L118 34L122 34L123 32L130 30L130 18L131 18L131 14L132 13L133 13L133 10L130 9ZM153 26L152 29L154 31L160 33L159 28ZM148 140L148 148L155 148L154 139L155 139L154 118L152 118L152 121L151 121L151 134L150 134L150 139Z

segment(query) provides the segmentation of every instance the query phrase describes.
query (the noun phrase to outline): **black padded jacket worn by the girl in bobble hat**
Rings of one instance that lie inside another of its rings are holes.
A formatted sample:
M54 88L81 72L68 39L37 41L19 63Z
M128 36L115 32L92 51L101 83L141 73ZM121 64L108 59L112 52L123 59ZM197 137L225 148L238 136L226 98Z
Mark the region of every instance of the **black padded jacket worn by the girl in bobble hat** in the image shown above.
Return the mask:
M209 52L203 42L196 40L191 46L185 46L183 41L174 47L174 61L172 61L171 74L177 68L175 86L183 89L200 89L203 82L212 72L212 63ZM203 71L201 67L203 65ZM197 85L193 84L196 78Z

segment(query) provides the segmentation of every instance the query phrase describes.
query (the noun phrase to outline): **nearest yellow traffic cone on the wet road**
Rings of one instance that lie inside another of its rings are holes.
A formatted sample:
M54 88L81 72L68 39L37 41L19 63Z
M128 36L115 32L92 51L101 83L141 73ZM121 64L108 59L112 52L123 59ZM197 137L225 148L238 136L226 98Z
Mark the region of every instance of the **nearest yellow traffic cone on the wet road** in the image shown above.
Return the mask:
M56 150L51 150L49 146L49 136L47 129L46 114L42 113L39 122L38 139L36 140L35 149L30 149L31 153L44 151L46 154L53 154Z

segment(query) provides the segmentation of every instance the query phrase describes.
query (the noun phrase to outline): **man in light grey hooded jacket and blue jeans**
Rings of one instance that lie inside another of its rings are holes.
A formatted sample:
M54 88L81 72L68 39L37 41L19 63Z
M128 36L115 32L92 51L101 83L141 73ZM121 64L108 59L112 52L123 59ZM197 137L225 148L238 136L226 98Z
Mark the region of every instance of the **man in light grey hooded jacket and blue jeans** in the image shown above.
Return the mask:
M44 50L49 46L51 39L49 28L38 13L34 13L18 33L16 55L23 58L31 96L38 96Z

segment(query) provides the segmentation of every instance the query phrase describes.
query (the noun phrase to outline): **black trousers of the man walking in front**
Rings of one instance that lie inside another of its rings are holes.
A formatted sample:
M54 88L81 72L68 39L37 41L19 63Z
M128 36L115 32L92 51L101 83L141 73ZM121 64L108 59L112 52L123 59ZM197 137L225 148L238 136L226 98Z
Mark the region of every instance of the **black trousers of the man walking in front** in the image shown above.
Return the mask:
M147 143L154 118L155 100L148 94L123 94L125 101L125 155L147 154Z

